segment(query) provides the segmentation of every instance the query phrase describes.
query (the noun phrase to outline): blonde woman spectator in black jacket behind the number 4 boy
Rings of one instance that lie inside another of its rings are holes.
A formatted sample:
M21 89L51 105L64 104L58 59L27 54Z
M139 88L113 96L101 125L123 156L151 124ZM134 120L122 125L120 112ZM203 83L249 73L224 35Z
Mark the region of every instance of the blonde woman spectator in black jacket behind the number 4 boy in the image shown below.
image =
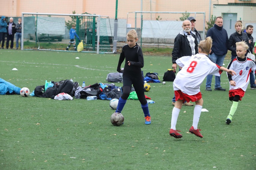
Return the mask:
M245 32L242 32L242 22L236 21L236 32L230 35L228 40L228 50L231 51L231 61L236 57L236 42L245 41L249 44L249 38Z

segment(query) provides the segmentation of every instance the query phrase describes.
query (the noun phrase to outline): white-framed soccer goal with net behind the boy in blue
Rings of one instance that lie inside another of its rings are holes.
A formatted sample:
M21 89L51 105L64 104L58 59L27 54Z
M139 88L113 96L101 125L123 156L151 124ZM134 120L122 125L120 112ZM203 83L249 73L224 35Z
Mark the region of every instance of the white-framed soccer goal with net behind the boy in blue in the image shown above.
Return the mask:
M112 31L108 16L92 14L22 13L22 49L65 51L70 42L69 31L83 41L81 52L112 53ZM79 39L75 36L75 46ZM73 44L69 51L74 51Z

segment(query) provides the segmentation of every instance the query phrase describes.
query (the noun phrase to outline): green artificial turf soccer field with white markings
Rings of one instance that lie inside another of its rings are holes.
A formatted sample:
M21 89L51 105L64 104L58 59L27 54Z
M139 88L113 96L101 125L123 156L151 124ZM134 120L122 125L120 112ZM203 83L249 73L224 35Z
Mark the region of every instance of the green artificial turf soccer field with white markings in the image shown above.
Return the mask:
M45 80L72 78L80 86L83 81L86 85L107 83L106 76L116 72L118 59L119 54L3 49L0 78L31 92ZM224 61L225 66L229 61ZM144 63L144 75L157 72L161 81L172 66L171 57L166 56L144 56ZM199 121L203 138L188 132L194 106L183 106L180 111L176 128L183 137L169 135L172 82L150 83L151 90L145 92L155 101L149 104L151 125L144 124L136 100L127 100L124 124L116 127L110 122L113 110L108 100L1 95L0 169L256 169L256 90L248 86L227 125L232 103L226 72L221 75L225 92L205 91L205 82L201 93L203 108L209 112L202 112Z

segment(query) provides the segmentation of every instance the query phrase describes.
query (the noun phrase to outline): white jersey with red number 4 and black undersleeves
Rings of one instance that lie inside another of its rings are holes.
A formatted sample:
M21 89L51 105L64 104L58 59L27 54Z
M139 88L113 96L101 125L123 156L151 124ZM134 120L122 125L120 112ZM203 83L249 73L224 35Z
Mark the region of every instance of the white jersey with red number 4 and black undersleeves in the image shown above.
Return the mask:
M227 66L227 69L234 70L236 75L231 76L227 73L228 80L235 81L236 86L229 86L229 90L242 89L246 91L250 81L250 72L255 71L255 63L250 58L239 58L236 56Z

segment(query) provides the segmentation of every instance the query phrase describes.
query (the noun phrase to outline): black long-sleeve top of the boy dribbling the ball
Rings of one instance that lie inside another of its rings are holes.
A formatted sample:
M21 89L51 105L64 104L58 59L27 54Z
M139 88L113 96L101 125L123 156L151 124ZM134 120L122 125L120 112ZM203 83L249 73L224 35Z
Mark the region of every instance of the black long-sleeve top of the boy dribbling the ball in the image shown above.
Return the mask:
M121 64L125 59L123 73L133 76L141 76L141 68L144 66L143 54L141 47L136 43L133 48L128 44L122 47L122 52L117 65L117 71L120 72ZM131 65L128 65L130 61Z

